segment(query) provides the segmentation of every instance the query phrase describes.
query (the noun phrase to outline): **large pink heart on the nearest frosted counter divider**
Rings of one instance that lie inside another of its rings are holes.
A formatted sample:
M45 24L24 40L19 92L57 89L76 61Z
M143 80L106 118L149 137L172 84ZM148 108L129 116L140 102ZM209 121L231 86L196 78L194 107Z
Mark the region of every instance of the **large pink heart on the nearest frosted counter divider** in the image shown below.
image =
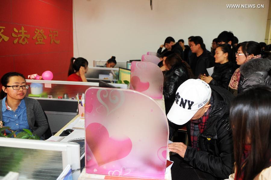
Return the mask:
M132 150L132 141L128 137L123 140L109 137L107 129L99 123L87 126L86 142L98 166L126 157Z

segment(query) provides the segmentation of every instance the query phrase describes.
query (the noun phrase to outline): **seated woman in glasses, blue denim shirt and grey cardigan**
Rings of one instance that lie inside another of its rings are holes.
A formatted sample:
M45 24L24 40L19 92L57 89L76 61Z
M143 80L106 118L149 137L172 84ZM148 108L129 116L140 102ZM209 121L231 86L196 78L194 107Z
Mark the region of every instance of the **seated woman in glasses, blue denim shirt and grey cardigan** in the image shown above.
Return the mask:
M8 72L1 78L0 121L17 133L29 129L41 137L48 129L41 105L36 99L25 97L29 85L22 74ZM37 127L34 127L34 124ZM6 130L6 133L11 133Z

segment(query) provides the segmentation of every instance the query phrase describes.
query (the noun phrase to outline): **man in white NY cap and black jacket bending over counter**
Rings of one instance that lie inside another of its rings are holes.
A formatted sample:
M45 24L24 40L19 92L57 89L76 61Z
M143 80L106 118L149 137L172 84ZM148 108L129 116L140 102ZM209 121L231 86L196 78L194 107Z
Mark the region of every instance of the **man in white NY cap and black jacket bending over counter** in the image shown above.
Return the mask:
M232 97L226 89L210 87L200 79L189 79L179 86L167 118L173 125L186 125L189 143L168 145L169 151L177 153L170 157L174 161L173 180L225 179L232 173Z

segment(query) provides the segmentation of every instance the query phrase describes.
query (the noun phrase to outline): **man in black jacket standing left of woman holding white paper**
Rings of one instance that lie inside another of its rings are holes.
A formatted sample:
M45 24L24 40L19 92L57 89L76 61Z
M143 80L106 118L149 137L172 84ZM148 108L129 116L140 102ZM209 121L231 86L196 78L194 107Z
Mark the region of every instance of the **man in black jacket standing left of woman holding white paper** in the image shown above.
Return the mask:
M200 36L195 36L190 40L192 55L189 57L189 65L196 77L200 74L209 75L206 68L214 66L213 54L206 50Z

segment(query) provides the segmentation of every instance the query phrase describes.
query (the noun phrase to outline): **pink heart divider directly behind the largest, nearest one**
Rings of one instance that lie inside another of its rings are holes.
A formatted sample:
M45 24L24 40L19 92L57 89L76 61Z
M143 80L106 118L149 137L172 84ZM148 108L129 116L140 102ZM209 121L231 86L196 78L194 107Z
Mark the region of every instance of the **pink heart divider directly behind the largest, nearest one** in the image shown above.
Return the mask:
M163 81L163 73L154 63L132 62L130 89L142 92L154 99L162 99Z

